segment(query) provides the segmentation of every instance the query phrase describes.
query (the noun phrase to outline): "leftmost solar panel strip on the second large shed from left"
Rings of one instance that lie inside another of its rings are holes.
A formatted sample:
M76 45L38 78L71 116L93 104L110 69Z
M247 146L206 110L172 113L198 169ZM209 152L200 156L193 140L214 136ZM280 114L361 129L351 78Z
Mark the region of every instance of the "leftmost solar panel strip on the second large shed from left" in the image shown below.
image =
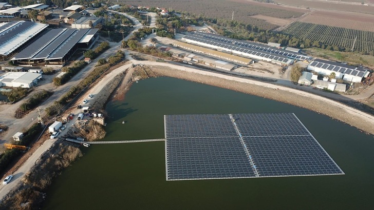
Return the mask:
M36 53L45 48L53 39L59 36L64 29L52 29L36 39L33 43L23 49L15 56L15 59L32 58ZM43 40L43 41L41 41Z

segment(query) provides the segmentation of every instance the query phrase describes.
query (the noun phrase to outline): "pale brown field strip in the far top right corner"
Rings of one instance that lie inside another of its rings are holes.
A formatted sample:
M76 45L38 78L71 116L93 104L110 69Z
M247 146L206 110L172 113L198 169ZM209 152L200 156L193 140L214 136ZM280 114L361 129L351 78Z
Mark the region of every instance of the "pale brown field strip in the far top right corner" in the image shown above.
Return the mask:
M364 0L365 1L365 0ZM318 1L318 0L274 0L278 4L287 5L296 8L310 8L310 9L322 9L322 10L336 10L336 11L347 11L347 12L358 12L374 14L374 4L372 1L370 5L362 5L361 2L337 2L337 1ZM352 2L352 1L349 1Z

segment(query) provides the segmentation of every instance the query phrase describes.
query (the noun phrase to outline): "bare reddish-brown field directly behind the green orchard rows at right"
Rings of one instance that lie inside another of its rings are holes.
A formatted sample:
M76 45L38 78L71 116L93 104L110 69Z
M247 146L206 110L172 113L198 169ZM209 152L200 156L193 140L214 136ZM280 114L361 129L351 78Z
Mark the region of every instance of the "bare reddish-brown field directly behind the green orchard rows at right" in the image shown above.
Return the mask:
M374 15L368 14L313 11L298 21L374 32Z

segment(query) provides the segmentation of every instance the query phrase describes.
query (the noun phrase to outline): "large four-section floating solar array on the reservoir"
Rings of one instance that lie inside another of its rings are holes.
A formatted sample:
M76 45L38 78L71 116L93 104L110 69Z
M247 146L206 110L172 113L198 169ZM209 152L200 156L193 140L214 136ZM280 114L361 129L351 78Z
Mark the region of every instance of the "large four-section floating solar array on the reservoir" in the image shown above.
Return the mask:
M344 174L293 113L165 115L166 180Z

